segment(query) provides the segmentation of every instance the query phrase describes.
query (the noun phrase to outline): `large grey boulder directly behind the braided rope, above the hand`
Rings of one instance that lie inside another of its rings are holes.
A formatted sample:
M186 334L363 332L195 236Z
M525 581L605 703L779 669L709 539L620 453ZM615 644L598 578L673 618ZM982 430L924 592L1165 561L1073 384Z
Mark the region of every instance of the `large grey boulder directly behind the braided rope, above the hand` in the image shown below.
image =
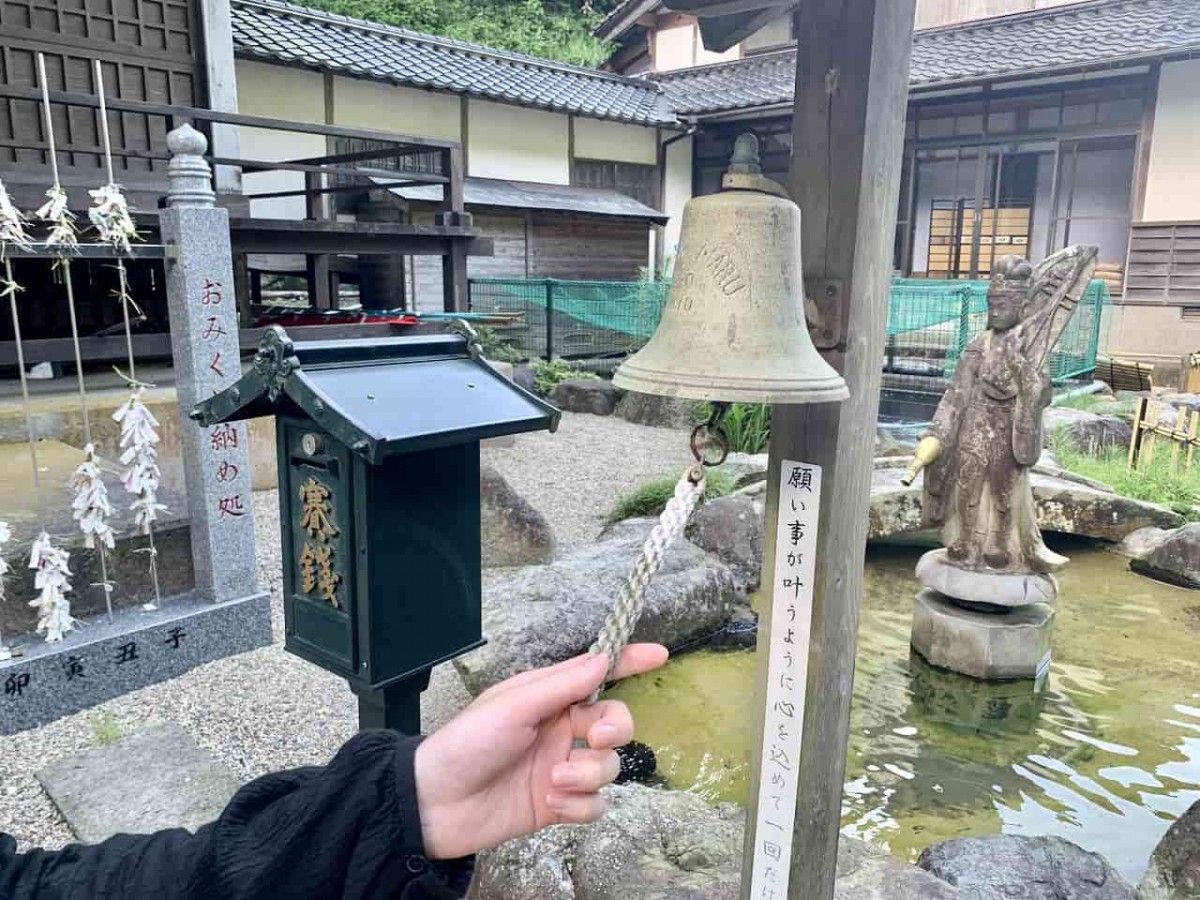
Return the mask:
M530 668L586 653L612 608L652 520L620 522L605 540L550 565L484 575L488 643L455 660L472 694ZM637 641L679 647L720 630L740 592L733 572L695 544L677 541L646 592Z

